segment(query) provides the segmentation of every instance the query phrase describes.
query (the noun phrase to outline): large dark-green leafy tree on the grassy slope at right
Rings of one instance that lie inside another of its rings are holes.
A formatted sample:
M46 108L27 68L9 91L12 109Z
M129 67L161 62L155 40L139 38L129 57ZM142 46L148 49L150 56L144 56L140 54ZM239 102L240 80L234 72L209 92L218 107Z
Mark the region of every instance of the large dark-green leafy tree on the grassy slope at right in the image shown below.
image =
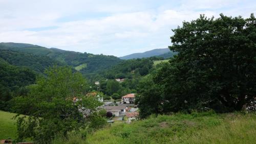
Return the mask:
M256 19L200 18L173 30L178 52L155 82L163 85L165 111L241 110L256 94Z

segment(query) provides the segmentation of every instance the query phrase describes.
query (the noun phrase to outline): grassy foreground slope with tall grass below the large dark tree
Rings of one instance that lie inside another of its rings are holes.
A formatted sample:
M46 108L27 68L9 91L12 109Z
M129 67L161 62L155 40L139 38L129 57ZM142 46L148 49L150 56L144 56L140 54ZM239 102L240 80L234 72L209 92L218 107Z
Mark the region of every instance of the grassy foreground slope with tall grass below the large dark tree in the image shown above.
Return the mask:
M152 116L106 127L85 140L71 135L54 143L256 143L256 114L193 113Z

